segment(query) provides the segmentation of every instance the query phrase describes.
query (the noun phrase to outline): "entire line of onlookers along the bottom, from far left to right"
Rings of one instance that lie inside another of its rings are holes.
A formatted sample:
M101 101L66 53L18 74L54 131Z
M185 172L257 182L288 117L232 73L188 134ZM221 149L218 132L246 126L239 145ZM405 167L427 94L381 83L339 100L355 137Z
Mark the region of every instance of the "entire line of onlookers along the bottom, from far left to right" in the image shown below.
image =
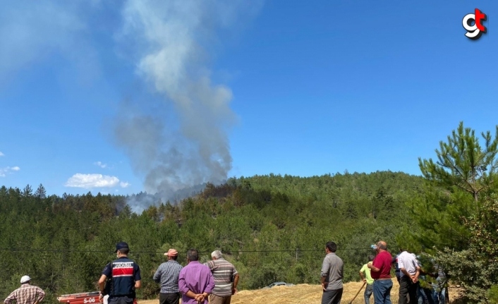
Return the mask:
M399 304L418 303L418 279L421 274L420 262L413 253L400 250L393 260L387 243L379 241L372 245L377 253L370 255L369 262L360 269L360 277L365 282L365 304L370 304L374 295L375 304L391 304L391 266L396 262L396 278L399 281ZM325 244L325 257L320 271L322 284L322 304L341 303L344 263L336 255L334 242ZM108 304L133 304L136 300L135 290L142 286L140 267L128 258L130 248L125 242L116 244L117 259L104 267L99 279L99 300L102 303L107 296ZM187 252L187 265L181 266L178 251L168 250L164 253L167 262L162 263L154 273L153 279L161 285L159 304L178 304L180 297L184 304L230 304L231 296L237 292L238 272L233 265L223 258L219 250L211 253L212 260L201 264L196 249ZM439 269L439 272L441 269ZM439 274L440 276L440 274ZM45 296L42 288L30 284L30 276L20 279L20 288L13 291L4 301L11 304L38 304ZM437 296L437 298L436 298ZM445 303L444 293L435 294L430 303Z

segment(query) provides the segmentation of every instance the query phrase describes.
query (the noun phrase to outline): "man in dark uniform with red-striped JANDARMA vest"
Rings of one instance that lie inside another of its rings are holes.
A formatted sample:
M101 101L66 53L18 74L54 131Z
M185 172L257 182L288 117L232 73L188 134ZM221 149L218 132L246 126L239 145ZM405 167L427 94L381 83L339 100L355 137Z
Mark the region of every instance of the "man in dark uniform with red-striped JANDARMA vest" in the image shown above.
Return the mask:
M117 243L114 252L118 259L107 264L102 271L99 279L99 298L102 303L102 299L108 294L109 304L131 304L135 300L135 289L142 287L140 267L128 259L130 248L127 243Z

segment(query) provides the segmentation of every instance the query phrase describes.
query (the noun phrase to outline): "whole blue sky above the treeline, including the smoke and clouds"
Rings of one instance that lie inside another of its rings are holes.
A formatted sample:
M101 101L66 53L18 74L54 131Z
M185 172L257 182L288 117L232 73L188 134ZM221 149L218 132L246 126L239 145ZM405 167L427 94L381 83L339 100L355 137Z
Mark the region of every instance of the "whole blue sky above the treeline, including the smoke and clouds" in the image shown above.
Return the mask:
M0 185L419 174L459 121L498 124L493 1L162 2L0 4Z

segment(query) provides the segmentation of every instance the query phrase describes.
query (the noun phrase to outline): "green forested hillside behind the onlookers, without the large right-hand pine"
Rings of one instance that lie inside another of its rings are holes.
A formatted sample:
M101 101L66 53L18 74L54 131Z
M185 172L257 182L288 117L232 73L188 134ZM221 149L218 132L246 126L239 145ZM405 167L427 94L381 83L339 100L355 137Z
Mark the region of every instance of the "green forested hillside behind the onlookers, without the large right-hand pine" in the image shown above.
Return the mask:
M317 284L324 244L336 241L345 280L384 239L411 224L407 202L423 197L423 178L391 171L372 174L253 176L208 184L176 204L157 202L141 214L116 195L47 196L42 185L0 188L0 287L6 297L29 274L50 295L97 290L114 245L126 241L142 270L140 298L159 291L152 281L163 253L176 248L185 264L188 248L202 260L219 249L241 273L241 289L272 281ZM135 197L136 198L136 197Z

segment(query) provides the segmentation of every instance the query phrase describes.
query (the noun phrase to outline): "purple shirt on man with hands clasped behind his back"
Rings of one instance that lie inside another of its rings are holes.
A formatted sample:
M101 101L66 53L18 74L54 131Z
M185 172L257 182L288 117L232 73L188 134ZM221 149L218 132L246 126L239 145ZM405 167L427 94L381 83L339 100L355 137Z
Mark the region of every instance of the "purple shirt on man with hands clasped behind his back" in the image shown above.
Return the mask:
M211 270L204 264L200 264L199 261L193 261L188 263L186 267L183 267L178 276L178 288L182 293L181 303L183 304L197 304L194 298L190 298L185 294L188 291L192 291L195 294L198 293L211 293L214 288L214 278L211 274ZM207 297L204 300L207 304Z

